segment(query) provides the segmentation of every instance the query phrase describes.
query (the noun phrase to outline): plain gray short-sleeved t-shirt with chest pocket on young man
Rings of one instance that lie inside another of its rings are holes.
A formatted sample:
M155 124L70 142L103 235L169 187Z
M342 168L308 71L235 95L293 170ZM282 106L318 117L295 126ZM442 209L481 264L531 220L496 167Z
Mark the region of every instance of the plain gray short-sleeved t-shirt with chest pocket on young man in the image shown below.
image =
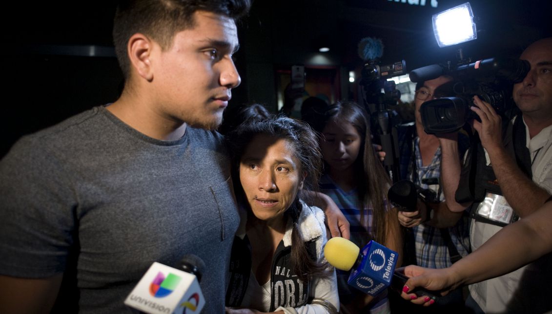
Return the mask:
M77 293L63 305L124 312L152 262L193 253L206 264L203 312L224 312L239 216L222 140L191 127L156 140L104 107L23 137L0 162L0 273L65 273L63 291Z

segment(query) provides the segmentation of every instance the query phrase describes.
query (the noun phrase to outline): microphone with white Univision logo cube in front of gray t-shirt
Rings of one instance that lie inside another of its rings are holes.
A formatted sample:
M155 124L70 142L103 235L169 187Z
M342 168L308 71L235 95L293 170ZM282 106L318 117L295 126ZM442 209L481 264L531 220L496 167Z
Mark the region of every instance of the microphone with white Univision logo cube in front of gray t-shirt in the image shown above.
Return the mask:
M199 281L205 263L189 254L181 259L177 268L154 262L126 297L125 305L150 314L201 312L205 298Z

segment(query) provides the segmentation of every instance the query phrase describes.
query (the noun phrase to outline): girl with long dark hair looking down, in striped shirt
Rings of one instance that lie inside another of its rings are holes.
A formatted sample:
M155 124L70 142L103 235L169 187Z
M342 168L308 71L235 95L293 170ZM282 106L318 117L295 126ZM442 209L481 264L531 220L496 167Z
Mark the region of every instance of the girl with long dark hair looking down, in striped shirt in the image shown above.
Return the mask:
M363 247L370 240L402 255L397 211L386 202L389 176L371 143L368 114L354 102L338 102L320 117L320 148L325 161L320 190L341 208L351 224L351 241ZM397 264L400 265L401 261ZM387 293L375 297L350 289L348 273L338 272L343 310L389 312Z

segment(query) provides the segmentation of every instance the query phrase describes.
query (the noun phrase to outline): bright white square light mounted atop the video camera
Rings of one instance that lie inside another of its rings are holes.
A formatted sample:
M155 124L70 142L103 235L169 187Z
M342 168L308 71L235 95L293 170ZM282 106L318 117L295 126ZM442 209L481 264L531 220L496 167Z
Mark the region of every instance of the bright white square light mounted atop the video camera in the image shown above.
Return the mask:
M433 15L433 33L439 47L477 38L474 14L469 2Z

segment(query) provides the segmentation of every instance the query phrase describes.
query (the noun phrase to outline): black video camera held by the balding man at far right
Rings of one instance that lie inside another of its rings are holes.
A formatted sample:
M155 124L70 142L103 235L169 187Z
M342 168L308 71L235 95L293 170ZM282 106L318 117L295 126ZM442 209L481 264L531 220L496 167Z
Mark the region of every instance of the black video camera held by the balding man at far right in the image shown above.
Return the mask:
M466 122L474 118L479 120L476 113L470 110L474 106L474 95L489 102L500 115L505 115L511 108L512 83L521 82L529 68L526 60L489 58L457 67L451 67L449 62L413 70L410 73L412 82L423 82L440 75L450 75L455 82L453 91L457 96L422 104L420 115L426 133L456 132Z

